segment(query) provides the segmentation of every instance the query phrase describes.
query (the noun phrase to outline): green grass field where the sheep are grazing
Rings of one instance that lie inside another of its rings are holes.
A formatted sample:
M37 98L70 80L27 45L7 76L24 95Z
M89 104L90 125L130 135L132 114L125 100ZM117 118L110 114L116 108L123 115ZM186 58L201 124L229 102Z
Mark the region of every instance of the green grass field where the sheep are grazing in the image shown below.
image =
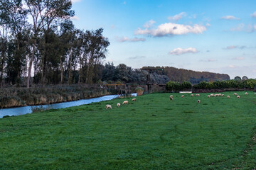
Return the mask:
M237 93L149 94L3 118L0 169L255 169L256 95Z

